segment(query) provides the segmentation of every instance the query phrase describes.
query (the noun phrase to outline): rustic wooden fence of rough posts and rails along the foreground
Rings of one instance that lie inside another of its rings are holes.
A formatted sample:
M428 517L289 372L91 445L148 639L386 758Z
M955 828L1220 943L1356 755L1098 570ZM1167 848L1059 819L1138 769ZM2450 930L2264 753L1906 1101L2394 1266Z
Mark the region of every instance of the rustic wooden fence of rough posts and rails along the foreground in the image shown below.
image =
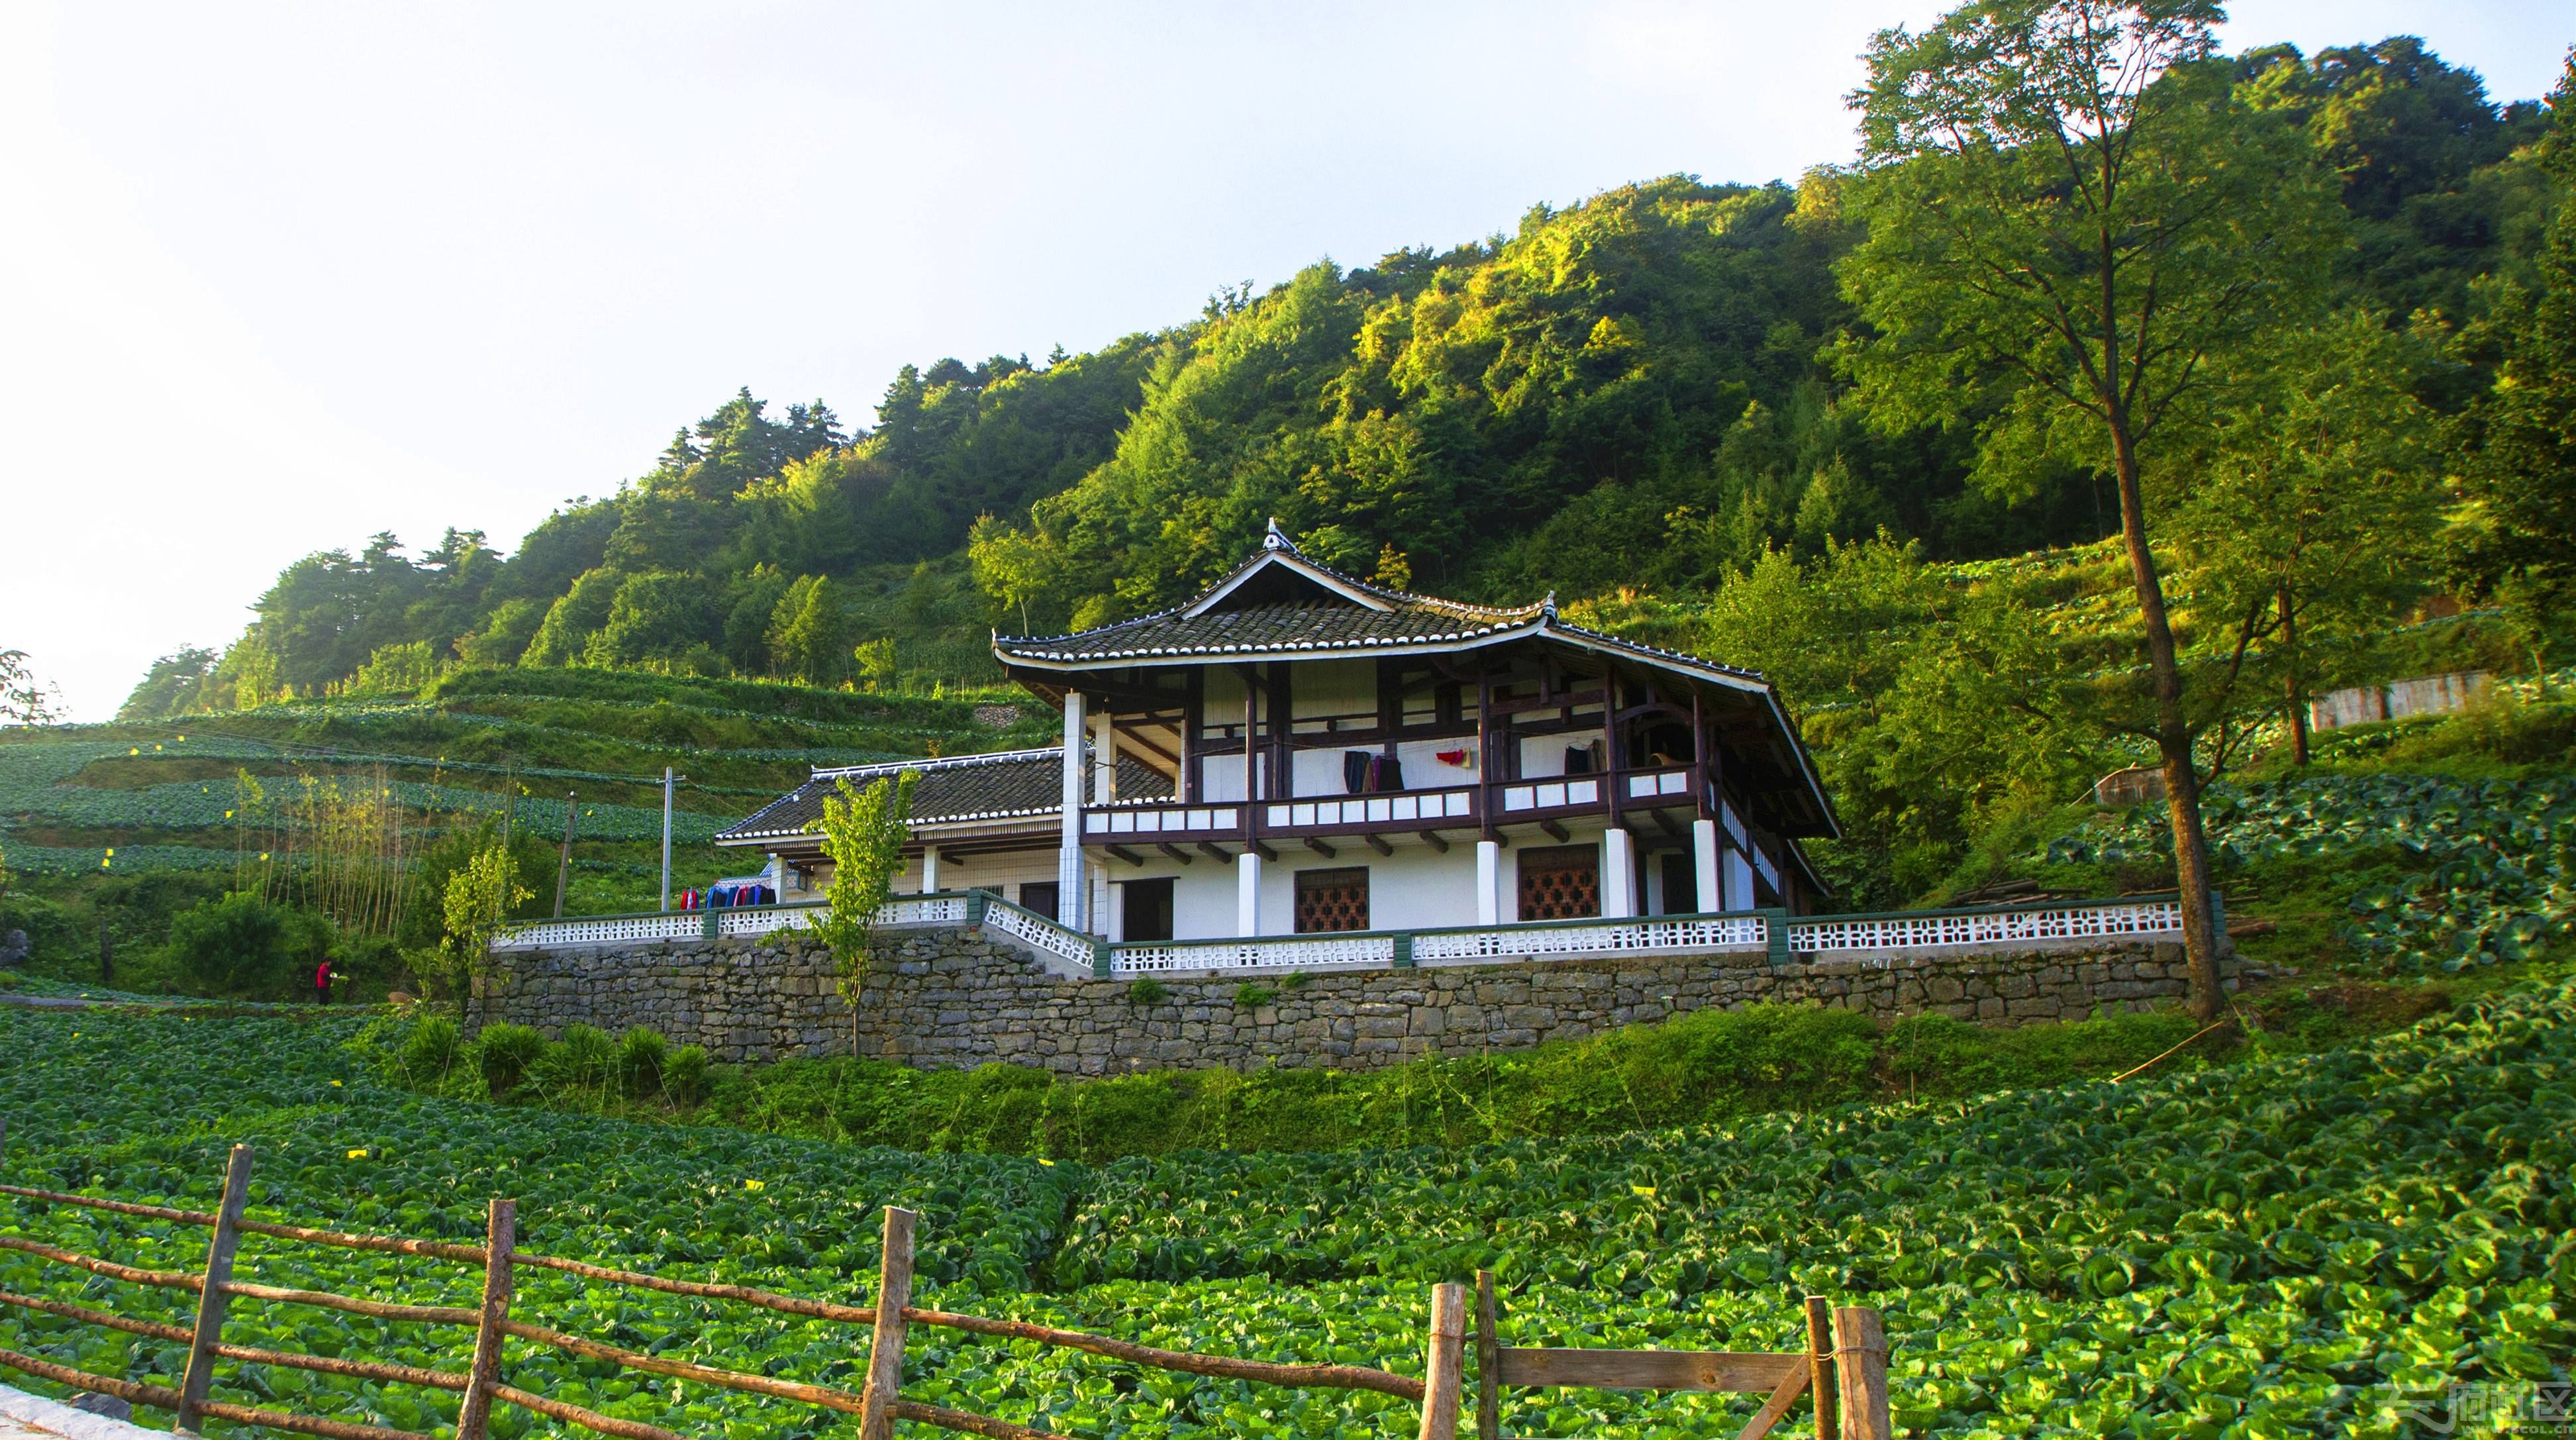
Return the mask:
M860 1422L858 1425L860 1440L891 1440L896 1419L909 1419L914 1425L933 1425L940 1430L956 1430L963 1435L984 1435L989 1440L1061 1440L1059 1435L1048 1435L1043 1430L1033 1430L989 1414L969 1414L958 1409L902 1399L907 1332L912 1324L930 1324L943 1329L961 1329L969 1334L987 1334L997 1340L1033 1340L1038 1345L1082 1350L1110 1360L1154 1365L1164 1370L1182 1370L1193 1376L1234 1378L1234 1381L1293 1386L1293 1388L1376 1391L1422 1407L1422 1430L1419 1430L1422 1440L1455 1440L1458 1432L1463 1360L1468 1340L1463 1285L1432 1285L1425 1378L1417 1381L1409 1376L1396 1376L1391 1370L1376 1370L1368 1365L1291 1365L1273 1360L1239 1360L1231 1355L1193 1355L1185 1350L1154 1350L1149 1345L1133 1345L1126 1340L1110 1340L1105 1334L1084 1334L1046 1324L917 1309L912 1306L912 1249L914 1249L917 1216L912 1211L902 1211L894 1206L886 1208L884 1255L876 1288L878 1303L842 1306L804 1296L781 1296L752 1285L711 1285L698 1280L672 1280L667 1275L644 1275L636 1270L613 1270L605 1265L590 1265L585 1260L526 1255L518 1249L515 1200L492 1200L484 1229L484 1244L479 1247L435 1242L435 1239L345 1234L345 1231L327 1231L309 1226L289 1226L276 1221L252 1221L242 1216L242 1206L250 1193L250 1164L252 1164L250 1146L234 1146L229 1164L224 1170L224 1200L222 1208L214 1213L178 1211L165 1206L137 1206L129 1200L103 1200L93 1195L67 1195L59 1190L31 1190L23 1185L0 1185L0 1195L18 1195L59 1206L82 1206L93 1211L206 1226L211 1231L206 1244L206 1267L201 1275L180 1270L142 1270L134 1265L118 1265L113 1260L77 1255L72 1249L41 1244L23 1236L0 1236L0 1249L15 1249L54 1265L88 1270L93 1275L106 1275L111 1280L124 1280L134 1285L193 1291L198 1296L193 1327L131 1319L100 1309L77 1306L70 1301L54 1301L44 1296L15 1296L0 1291L0 1306L52 1314L82 1324L118 1329L126 1334L144 1334L152 1340L185 1342L188 1368L178 1388L121 1381L111 1376L93 1376L85 1370L57 1365L52 1360L21 1355L15 1350L0 1350L0 1365L62 1386L121 1396L131 1404L170 1409L180 1417L178 1425L180 1432L191 1432L204 1419L229 1419L234 1425L255 1425L265 1430L286 1430L299 1435L322 1435L325 1440L422 1440L420 1435L407 1430L386 1430L379 1425L355 1425L345 1419L325 1419L314 1414L291 1414L278 1409L255 1409L209 1399L214 1383L214 1363L240 1360L252 1365L283 1365L325 1376L348 1376L363 1381L422 1386L422 1388L459 1394L461 1404L456 1419L456 1440L487 1440L495 1404L513 1404L533 1414L544 1414L564 1425L577 1425L598 1435L616 1435L618 1440L680 1440L680 1435L672 1435L670 1430L654 1425L644 1425L636 1419L618 1419L611 1414L600 1414L577 1404L567 1404L505 1383L505 1345L507 1340L526 1340L533 1345L562 1350L567 1355L580 1355L585 1360L603 1360L649 1376L667 1376L744 1394L765 1394L775 1399L811 1404L819 1409L832 1409L840 1414L853 1414ZM392 1301L335 1296L327 1291L291 1291L291 1288L255 1285L247 1280L237 1280L232 1270L242 1234L268 1234L301 1244L420 1255L461 1265L479 1265L484 1273L482 1306L477 1309L407 1306ZM569 1275L611 1285L737 1301L770 1309L778 1314L827 1319L837 1324L866 1324L871 1327L866 1388L860 1394L850 1394L845 1388L814 1386L804 1381L781 1381L773 1376L721 1370L714 1365L698 1365L690 1360L667 1360L659 1355L623 1350L580 1334L546 1329L541 1324L510 1314L515 1296L515 1273L520 1267L564 1270ZM301 1303L301 1306L319 1306L374 1319L474 1329L474 1358L464 1373L456 1373L456 1370L425 1370L417 1365L389 1365L376 1360L294 1355L281 1350L224 1345L222 1327L232 1298ZM1739 1352L1680 1352L1680 1350L1517 1350L1499 1345L1494 1275L1479 1273L1476 1327L1473 1327L1476 1376L1479 1376L1479 1396L1476 1396L1479 1440L1499 1440L1499 1388L1507 1383L1664 1388L1664 1391L1754 1391L1754 1394L1767 1391L1770 1399L1765 1401L1762 1412L1754 1414L1752 1425L1744 1427L1741 1440L1754 1440L1770 1432L1770 1427L1788 1414L1788 1409L1795 1404L1801 1394L1814 1391L1819 1396L1819 1427L1816 1427L1819 1440L1891 1440L1893 1430L1888 1427L1888 1388L1886 1388L1888 1342L1878 1322L1878 1311L1829 1309L1826 1301L1808 1298L1806 1319L1808 1319L1808 1352L1801 1355L1739 1355ZM1826 1329L1832 1332L1832 1340L1826 1340ZM1834 1404L1837 1394L1842 1399L1839 1407Z

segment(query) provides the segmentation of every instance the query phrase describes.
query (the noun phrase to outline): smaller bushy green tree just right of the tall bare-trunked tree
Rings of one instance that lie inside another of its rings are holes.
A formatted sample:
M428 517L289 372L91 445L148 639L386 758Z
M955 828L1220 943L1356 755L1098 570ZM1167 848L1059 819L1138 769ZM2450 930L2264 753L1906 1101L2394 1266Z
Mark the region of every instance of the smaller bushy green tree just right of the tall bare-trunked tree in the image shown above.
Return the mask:
M2442 492L2432 415L2409 384L2411 337L2372 312L2287 330L2231 366L2208 456L2172 505L2221 726L2254 647L2280 680L2295 763L2308 763L2311 654L2385 631L2437 559ZM2269 706L2262 706L2269 708Z

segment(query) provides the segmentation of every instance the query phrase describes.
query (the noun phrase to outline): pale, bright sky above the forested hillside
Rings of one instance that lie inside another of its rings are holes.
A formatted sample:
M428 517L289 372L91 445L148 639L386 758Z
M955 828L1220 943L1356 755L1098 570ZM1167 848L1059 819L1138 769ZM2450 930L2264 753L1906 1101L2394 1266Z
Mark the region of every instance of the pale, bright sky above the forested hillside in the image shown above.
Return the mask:
M80 719L392 528L513 546L734 386L1188 319L1535 201L1852 155L1888 0L0 3L0 647ZM2421 33L2504 98L2563 0L2233 5Z

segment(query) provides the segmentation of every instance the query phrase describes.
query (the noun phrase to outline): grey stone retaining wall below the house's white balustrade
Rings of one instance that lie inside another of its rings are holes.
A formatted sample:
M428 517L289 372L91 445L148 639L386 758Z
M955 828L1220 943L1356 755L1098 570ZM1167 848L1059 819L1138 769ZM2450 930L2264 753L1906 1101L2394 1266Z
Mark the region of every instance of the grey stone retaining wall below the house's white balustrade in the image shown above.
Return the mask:
M1064 1074L1133 1066L1370 1069L1412 1056L1517 1051L1685 1010L1819 1002L1870 1015L1942 1012L1989 1025L2146 1010L2184 992L2182 945L2110 943L1968 956L1826 958L1772 969L1762 956L1535 961L1327 971L1291 981L1064 979L981 930L878 933L860 1048L917 1066L1010 1061ZM662 940L495 956L492 1020L623 1030L652 1025L724 1061L850 1054L850 1007L819 945ZM2228 961L2233 976L2233 961ZM2233 979L2228 981L2233 987Z

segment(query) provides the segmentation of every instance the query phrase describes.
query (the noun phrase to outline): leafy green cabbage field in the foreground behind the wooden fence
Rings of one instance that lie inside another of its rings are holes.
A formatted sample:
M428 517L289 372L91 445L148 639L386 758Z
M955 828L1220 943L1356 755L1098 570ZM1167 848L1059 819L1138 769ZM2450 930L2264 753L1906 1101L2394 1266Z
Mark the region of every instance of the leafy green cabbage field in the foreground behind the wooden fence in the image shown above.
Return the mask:
M1886 1311L1917 1435L2398 1435L2452 1381L2568 1378L2576 984L2530 981L2316 1056L1734 1128L1105 1167L907 1154L420 1097L348 1048L355 1018L0 1012L0 1172L211 1208L258 1146L252 1211L479 1236L866 1301L876 1206L922 1211L925 1303L1149 1345L1419 1373L1425 1285L1494 1267L1504 1340L1798 1347L1801 1293ZM0 1200L0 1229L188 1270L204 1231ZM250 1236L263 1283L471 1303L477 1273ZM185 1296L0 1252L0 1288L178 1319ZM855 1386L866 1337L520 1273L559 1329ZM170 1383L180 1350L0 1311L0 1345ZM245 1345L461 1368L469 1332L237 1301ZM693 1435L848 1417L520 1350L513 1383ZM41 1386L39 1386L41 1388ZM219 1394L440 1425L451 1396L232 1368ZM912 1399L1066 1435L1412 1435L1365 1394L917 1334ZM1734 1432L1752 1396L1528 1391L1507 1435ZM502 1412L505 1435L528 1419ZM1803 1419L1798 1422L1803 1427Z

